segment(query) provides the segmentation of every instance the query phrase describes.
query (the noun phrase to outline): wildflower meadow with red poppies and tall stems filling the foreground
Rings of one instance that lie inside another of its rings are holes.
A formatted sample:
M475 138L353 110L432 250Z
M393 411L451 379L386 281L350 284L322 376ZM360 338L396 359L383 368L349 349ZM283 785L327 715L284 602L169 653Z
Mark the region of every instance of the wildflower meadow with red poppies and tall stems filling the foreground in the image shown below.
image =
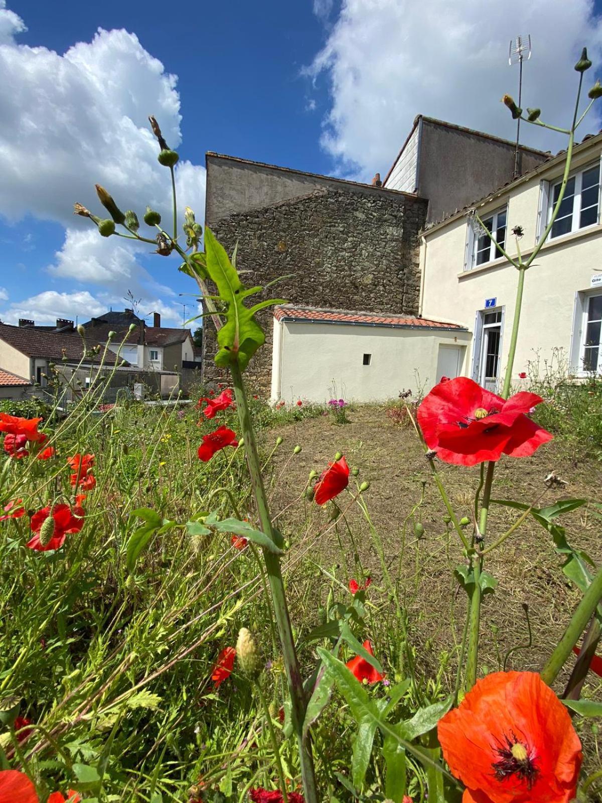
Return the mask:
M576 108L589 67L584 51ZM567 158L548 230L583 119L556 127ZM351 400L270 407L247 387L265 340L255 313L283 300L245 287L193 210L178 233L178 154L150 123L173 221L148 207L140 233L100 185L108 217L75 214L179 255L223 381L165 406L105 405L99 371L67 410L0 412L0 803L600 800L599 482L573 496L552 465L535 486L520 474L556 438L600 477L600 438L569 426L600 381L556 394L514 365L547 232L526 259L496 243L517 271L500 393L444 377L368 410L393 449L371 477L370 436L346 441L362 415ZM316 442L349 450L307 454L294 436L319 426ZM395 474L407 480L410 460L412 502ZM385 534L371 512L383 489ZM513 578L539 596L504 616Z

